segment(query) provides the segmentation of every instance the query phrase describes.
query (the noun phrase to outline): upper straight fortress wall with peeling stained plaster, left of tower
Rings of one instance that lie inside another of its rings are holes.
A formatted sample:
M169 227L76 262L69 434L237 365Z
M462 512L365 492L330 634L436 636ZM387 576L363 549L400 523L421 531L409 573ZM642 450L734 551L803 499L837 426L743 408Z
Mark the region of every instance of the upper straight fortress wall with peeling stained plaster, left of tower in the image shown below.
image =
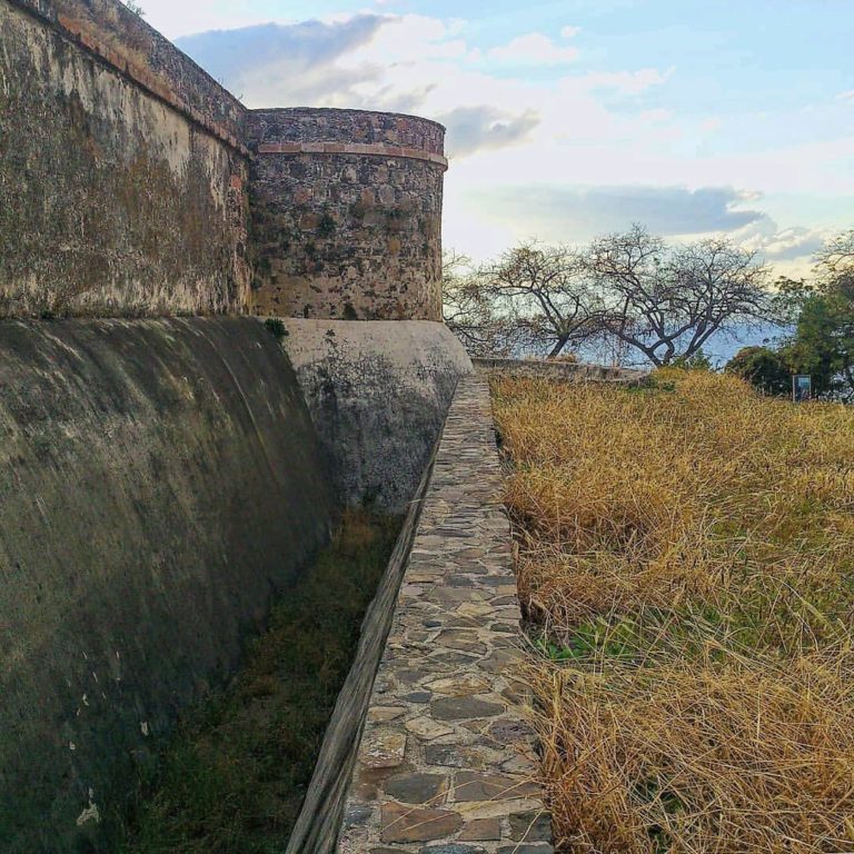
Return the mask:
M237 101L115 0L0 32L0 318L245 311Z

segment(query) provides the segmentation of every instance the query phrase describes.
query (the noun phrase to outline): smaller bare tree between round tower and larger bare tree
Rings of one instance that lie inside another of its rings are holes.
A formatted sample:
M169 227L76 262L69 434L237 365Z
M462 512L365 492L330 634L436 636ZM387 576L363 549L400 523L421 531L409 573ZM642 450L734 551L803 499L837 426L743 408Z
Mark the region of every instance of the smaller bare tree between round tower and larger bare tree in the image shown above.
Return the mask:
M513 306L515 322L529 344L547 350L549 359L595 331L595 296L583 260L572 249L522 244L481 276L491 302Z

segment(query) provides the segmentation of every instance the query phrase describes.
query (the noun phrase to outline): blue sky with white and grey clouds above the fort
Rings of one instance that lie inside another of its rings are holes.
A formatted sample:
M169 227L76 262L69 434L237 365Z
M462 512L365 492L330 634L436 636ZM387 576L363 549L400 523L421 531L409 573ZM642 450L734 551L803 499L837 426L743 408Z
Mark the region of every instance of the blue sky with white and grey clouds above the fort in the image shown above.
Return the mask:
M639 221L797 274L854 227L854 0L142 6L249 107L445 123L445 239L476 258Z

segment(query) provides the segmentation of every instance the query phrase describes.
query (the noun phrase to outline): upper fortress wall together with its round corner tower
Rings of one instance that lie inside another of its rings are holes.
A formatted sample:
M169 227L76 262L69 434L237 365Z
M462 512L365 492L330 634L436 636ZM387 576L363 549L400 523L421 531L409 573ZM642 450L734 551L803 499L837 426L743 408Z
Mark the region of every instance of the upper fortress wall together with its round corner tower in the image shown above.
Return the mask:
M0 317L441 320L440 125L248 110L117 0L0 30Z

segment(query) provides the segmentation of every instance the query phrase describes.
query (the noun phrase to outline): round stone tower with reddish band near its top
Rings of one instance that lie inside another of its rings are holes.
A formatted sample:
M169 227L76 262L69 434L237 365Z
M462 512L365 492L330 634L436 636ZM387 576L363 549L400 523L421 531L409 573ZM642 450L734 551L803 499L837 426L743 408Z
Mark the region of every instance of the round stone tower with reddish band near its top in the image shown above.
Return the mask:
M364 110L255 110L254 310L441 320L445 128Z

